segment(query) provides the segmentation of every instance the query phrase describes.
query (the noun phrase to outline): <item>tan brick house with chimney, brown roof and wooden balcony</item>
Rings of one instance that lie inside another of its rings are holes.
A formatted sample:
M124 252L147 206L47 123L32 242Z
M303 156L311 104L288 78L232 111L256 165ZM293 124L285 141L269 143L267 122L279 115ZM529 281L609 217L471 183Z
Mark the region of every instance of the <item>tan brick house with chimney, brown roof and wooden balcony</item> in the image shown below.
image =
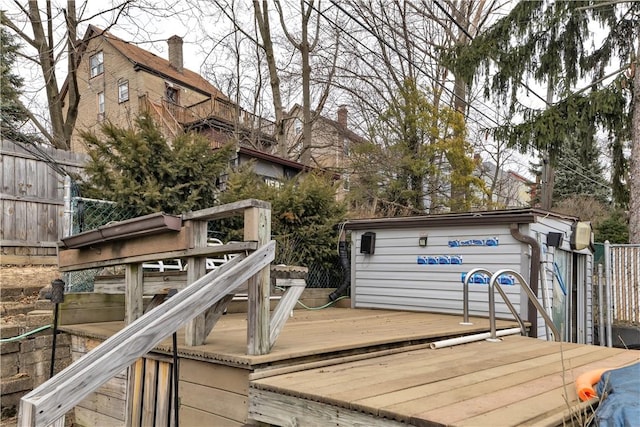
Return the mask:
M212 148L237 142L234 162L255 159L265 179L304 169L268 154L275 145L273 122L243 110L200 74L184 68L180 37L167 43L168 60L90 25L80 44L76 130L98 132L107 119L127 127L138 114L149 112L169 140L191 129L206 135ZM63 87L63 102L66 96ZM71 151L86 151L79 132L72 137Z

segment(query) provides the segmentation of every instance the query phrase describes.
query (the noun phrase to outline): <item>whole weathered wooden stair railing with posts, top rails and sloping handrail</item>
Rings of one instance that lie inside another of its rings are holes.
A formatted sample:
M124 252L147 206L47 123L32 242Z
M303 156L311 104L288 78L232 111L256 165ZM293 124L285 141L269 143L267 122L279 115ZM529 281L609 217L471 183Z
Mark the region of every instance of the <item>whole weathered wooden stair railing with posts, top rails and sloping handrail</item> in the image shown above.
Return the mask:
M232 215L244 215L244 242L207 246L207 222ZM105 382L131 367L162 340L187 324L186 344L200 345L233 298L234 292L248 284L247 353L266 354L275 344L296 304L283 297L270 314L269 264L274 259L275 242L270 241L270 205L244 200L182 215L179 232L97 242L86 248L61 249L61 271L95 266L125 265L126 319L124 329L59 374L25 395L20 404L20 426L63 425L64 414ZM118 227L118 224L114 224ZM232 246L235 245L235 246ZM207 256L247 250L221 267L205 274ZM161 308L142 314L142 263L153 259L186 257L187 287ZM294 289L297 293L299 289ZM297 293L299 295L299 293ZM129 381L135 377L129 375ZM129 410L135 405L129 405ZM128 415L131 417L131 414ZM61 424L62 420L62 424Z

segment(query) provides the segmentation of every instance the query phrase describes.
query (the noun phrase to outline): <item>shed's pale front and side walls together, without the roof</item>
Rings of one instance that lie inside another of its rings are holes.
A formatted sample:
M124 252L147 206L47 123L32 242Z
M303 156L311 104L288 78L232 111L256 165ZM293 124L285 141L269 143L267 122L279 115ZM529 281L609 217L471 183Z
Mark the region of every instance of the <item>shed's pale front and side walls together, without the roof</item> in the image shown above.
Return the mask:
M572 253L570 247L572 222L555 217L541 217L538 222L521 224L520 232L535 238L542 249L542 273L545 279L538 284L542 302L542 288L546 286L549 303L553 300L553 262L556 251ZM374 254L361 253L362 235L376 233ZM563 234L558 248L546 244L549 232ZM427 237L421 247L419 239ZM452 245L451 242L459 242ZM472 241L472 245L465 245ZM491 241L488 245L486 242ZM480 244L484 242L484 244ZM497 244L496 244L497 243ZM430 264L430 257L455 258L459 263ZM572 284L578 295L578 342L592 343L591 280L593 257L590 251L579 253L583 258L582 277ZM426 260L427 263L420 263ZM511 236L507 225L483 225L435 228L398 228L354 230L352 233L352 304L356 308L384 308L392 310L429 311L461 314L463 304L462 274L474 268L491 272L512 269L529 277L531 249ZM523 319L527 319L527 296L519 285L502 286ZM486 284L470 284L469 312L488 316ZM512 318L506 304L496 295L496 316ZM584 304L584 305L583 305ZM538 337L546 337L544 319L538 314Z

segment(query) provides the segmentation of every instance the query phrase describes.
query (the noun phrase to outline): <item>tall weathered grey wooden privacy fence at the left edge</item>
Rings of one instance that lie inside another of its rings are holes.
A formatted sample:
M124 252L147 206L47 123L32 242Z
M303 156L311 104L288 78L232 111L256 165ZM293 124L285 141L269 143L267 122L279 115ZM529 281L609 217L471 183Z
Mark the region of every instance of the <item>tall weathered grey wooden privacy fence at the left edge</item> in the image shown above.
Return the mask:
M87 156L0 143L0 264L56 264L65 217L60 171L82 171Z

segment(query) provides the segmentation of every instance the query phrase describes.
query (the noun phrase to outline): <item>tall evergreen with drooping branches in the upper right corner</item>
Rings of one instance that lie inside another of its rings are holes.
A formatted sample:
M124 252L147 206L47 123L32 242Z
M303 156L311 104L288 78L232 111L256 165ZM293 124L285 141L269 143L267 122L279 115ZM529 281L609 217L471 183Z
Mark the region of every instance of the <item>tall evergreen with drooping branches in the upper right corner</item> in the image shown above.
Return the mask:
M606 32L602 41L590 24ZM640 158L640 128L633 127L640 119L633 95L640 93L639 28L640 2L521 1L452 61L468 84L481 71L486 95L523 118L495 129L494 136L522 152L548 153L553 166L563 144L589 144L595 132L608 131L612 196L618 206L629 203L635 239L640 239L640 161L631 162L629 170L624 152L630 146L632 158ZM620 69L607 74L612 64ZM559 101L542 110L519 104L517 94L528 79L552 88ZM580 88L585 80L591 84ZM632 120L634 114L638 118Z

